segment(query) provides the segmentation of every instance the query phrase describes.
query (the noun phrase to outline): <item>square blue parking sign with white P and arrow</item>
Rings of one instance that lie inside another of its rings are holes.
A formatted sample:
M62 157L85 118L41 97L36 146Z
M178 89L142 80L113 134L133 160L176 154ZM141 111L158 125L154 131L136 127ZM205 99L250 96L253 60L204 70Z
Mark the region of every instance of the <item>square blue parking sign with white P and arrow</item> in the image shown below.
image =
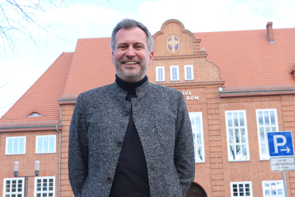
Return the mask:
M267 138L270 157L294 156L291 131L268 132Z

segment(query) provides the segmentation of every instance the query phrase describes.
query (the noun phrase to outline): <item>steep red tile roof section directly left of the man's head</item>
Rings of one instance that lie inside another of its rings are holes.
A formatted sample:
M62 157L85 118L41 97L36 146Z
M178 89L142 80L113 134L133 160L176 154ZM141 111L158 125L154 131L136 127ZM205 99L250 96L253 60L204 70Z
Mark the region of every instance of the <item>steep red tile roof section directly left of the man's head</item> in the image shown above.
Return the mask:
M110 38L79 39L73 55L63 98L114 82Z

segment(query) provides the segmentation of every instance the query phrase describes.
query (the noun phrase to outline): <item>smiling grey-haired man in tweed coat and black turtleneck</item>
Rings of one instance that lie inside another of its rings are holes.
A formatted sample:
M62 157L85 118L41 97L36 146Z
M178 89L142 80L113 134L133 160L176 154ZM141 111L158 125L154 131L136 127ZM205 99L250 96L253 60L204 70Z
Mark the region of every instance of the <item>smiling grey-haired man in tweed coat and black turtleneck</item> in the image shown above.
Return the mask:
M184 196L194 146L183 94L148 82L153 38L124 19L111 38L113 84L81 93L69 133L75 196Z

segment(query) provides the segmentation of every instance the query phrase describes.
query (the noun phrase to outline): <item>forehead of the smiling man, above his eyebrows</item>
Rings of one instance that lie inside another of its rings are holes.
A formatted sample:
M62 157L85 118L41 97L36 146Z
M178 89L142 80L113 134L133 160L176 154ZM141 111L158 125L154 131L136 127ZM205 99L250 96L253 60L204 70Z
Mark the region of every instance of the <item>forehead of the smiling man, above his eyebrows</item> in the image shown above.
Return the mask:
M146 34L139 27L121 28L116 34L116 45L121 43L143 43L147 45Z

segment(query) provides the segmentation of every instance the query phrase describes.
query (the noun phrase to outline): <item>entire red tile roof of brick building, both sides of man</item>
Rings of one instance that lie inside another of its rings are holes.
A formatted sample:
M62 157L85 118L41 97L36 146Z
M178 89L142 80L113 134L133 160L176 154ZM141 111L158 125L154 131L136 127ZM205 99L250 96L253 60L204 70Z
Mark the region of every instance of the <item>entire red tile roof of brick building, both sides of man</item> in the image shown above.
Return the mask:
M276 44L269 43L266 29L194 35L201 39L200 49L206 49L207 60L219 66L224 87L294 85L290 71L295 66L295 28L273 32ZM19 122L59 122L58 99L76 98L81 92L114 82L109 41L110 38L79 39L75 52L62 53L1 118L0 127ZM25 118L32 112L44 116Z

